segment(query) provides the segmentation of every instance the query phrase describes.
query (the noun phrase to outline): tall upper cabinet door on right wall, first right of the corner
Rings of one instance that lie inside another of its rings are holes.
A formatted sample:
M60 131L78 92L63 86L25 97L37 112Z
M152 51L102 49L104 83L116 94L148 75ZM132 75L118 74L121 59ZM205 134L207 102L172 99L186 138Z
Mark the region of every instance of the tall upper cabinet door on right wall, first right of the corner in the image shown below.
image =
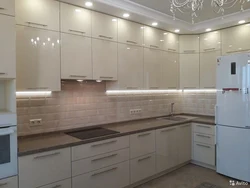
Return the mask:
M180 54L180 88L195 89L200 85L199 54Z

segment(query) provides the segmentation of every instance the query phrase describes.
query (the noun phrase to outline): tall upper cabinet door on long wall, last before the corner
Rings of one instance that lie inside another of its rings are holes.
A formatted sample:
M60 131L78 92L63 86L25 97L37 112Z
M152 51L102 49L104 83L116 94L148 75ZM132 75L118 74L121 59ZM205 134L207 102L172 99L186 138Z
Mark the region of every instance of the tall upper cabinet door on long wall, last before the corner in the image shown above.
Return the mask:
M162 52L161 88L179 88L179 54L173 52Z

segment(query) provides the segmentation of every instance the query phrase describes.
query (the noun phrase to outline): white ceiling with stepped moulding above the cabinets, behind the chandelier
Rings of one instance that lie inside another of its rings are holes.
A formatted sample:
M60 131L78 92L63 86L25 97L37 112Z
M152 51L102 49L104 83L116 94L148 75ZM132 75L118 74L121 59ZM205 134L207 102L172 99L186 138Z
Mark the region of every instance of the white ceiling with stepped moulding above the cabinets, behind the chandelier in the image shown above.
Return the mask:
M205 6L192 24L189 14L177 13L176 20L170 12L169 0L61 0L70 4L85 7L86 1L94 3L92 10L106 14L122 17L123 13L130 14L128 18L131 21L139 22L145 25L151 25L152 22L158 22L158 28L174 32L180 29L180 34L203 33L206 28L213 30L231 27L238 24L239 20L250 22L250 2L245 3L245 11L240 12L240 6L235 6L226 10L223 19L210 8L211 0L204 0ZM184 0L179 0L184 1ZM86 7L85 7L86 8Z

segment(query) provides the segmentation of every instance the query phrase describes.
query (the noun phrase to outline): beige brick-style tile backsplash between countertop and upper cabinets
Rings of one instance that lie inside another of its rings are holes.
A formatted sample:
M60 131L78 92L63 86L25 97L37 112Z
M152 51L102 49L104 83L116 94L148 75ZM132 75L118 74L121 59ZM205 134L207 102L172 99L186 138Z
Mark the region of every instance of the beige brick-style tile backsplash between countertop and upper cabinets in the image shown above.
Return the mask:
M18 97L19 136L168 115L172 102L176 113L214 115L214 93L106 95L105 91L104 82L64 82L62 91L49 97ZM130 115L130 109L142 113ZM30 126L30 119L40 118L41 126Z

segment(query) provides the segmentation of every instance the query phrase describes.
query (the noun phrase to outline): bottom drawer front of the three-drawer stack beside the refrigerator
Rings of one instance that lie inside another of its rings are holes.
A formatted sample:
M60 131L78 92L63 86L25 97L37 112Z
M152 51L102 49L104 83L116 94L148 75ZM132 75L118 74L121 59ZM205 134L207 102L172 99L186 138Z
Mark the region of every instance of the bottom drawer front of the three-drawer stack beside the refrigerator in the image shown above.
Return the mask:
M215 166L215 146L194 142L194 160Z

